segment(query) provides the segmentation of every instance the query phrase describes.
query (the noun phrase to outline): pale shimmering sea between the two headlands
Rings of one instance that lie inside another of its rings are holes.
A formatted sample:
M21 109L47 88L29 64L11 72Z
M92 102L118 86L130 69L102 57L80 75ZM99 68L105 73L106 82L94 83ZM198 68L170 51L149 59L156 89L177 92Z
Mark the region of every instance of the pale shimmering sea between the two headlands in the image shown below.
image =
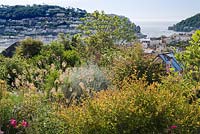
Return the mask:
M162 35L170 36L178 33L168 30L169 26L176 24L176 21L136 21L135 24L141 27L141 32L147 35L148 38L160 37Z

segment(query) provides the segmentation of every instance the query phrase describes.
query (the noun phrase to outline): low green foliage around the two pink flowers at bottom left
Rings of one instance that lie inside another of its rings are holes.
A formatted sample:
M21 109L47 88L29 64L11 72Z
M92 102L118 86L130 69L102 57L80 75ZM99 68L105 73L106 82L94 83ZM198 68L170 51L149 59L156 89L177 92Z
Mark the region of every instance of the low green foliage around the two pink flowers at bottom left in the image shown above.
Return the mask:
M29 92L28 94L9 94L0 101L0 126L5 133L36 133L55 134L67 133L68 125L56 113L54 105L50 105L43 95ZM17 127L11 128L10 119L17 121ZM28 126L21 126L26 120Z

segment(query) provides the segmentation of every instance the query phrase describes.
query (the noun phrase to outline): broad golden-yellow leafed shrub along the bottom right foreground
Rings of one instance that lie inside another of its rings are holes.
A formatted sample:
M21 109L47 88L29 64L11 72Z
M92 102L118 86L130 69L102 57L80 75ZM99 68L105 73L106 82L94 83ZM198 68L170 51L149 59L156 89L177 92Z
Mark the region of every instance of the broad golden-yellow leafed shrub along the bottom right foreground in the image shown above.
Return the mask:
M69 132L197 133L199 105L187 103L195 86L178 77L165 79L149 86L127 79L121 90L102 91L81 107L69 108L64 116ZM171 129L173 125L177 128Z

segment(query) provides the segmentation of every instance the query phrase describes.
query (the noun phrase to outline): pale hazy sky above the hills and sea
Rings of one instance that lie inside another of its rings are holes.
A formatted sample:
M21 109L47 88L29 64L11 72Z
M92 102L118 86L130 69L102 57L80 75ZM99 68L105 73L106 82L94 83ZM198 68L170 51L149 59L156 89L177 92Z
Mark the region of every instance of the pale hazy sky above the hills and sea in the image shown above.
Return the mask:
M51 4L104 10L132 21L180 21L200 13L200 0L0 0L4 5Z

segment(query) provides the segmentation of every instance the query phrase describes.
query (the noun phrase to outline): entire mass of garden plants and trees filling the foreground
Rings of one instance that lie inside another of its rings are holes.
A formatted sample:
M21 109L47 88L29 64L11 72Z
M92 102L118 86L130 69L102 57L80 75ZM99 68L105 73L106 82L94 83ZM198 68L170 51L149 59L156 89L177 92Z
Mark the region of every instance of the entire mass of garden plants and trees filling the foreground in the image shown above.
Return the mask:
M0 133L199 133L200 31L177 54L180 75L152 63L128 20L88 19L84 36L26 39L1 57Z

